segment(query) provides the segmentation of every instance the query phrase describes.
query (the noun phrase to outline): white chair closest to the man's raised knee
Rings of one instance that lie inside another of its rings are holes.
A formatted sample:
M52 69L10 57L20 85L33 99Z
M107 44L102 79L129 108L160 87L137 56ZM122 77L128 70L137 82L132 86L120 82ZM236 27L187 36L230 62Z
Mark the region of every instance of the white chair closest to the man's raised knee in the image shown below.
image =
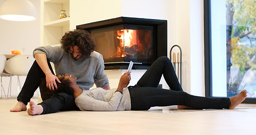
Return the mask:
M19 89L21 89L20 84L20 76L28 75L29 69L31 68L33 62L35 61L32 55L17 55L8 59L5 63L5 71L12 75L17 75L17 83L18 83L18 93ZM11 82L11 80L10 80ZM11 96L11 89L8 89L7 97L10 90Z

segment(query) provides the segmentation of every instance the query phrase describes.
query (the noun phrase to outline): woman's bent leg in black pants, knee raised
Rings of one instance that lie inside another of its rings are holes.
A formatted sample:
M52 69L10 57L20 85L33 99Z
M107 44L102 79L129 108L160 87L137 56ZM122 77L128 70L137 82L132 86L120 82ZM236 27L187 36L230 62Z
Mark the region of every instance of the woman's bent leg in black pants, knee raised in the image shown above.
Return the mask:
M178 82L178 78L173 69L172 62L168 57L159 57L137 82L137 87L157 87L161 76L164 76L170 89L174 91L183 91Z

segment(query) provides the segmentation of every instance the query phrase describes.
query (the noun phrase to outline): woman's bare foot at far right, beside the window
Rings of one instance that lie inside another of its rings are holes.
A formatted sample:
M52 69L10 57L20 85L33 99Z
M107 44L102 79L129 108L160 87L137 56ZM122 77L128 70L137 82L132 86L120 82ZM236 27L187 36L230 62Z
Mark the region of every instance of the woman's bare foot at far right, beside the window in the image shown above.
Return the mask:
M241 102L244 101L246 97L247 91L245 89L241 91L238 95L230 97L231 104L228 109L235 109L235 107L241 104Z

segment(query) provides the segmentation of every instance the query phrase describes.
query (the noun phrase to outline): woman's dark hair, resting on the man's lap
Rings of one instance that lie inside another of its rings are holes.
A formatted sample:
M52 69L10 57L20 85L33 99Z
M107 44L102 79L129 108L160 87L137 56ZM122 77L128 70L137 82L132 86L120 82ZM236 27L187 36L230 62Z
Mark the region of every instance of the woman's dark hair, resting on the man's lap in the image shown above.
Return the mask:
M60 82L56 82L57 84L57 89L54 88L54 91L51 89L48 89L46 87L46 78L41 79L41 83L39 85L40 93L41 93L41 98L42 100L47 100L49 99L53 94L55 93L60 93L60 92L65 92L68 93L69 95L73 95L74 89L70 87L71 82L69 79L65 79L64 77L59 78Z

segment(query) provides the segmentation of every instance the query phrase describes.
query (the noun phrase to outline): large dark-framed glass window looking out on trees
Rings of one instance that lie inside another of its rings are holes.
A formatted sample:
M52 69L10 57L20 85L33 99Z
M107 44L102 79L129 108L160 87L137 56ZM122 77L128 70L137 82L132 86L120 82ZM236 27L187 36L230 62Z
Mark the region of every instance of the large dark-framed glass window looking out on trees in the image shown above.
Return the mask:
M204 10L206 96L246 89L256 101L256 1L205 0Z

